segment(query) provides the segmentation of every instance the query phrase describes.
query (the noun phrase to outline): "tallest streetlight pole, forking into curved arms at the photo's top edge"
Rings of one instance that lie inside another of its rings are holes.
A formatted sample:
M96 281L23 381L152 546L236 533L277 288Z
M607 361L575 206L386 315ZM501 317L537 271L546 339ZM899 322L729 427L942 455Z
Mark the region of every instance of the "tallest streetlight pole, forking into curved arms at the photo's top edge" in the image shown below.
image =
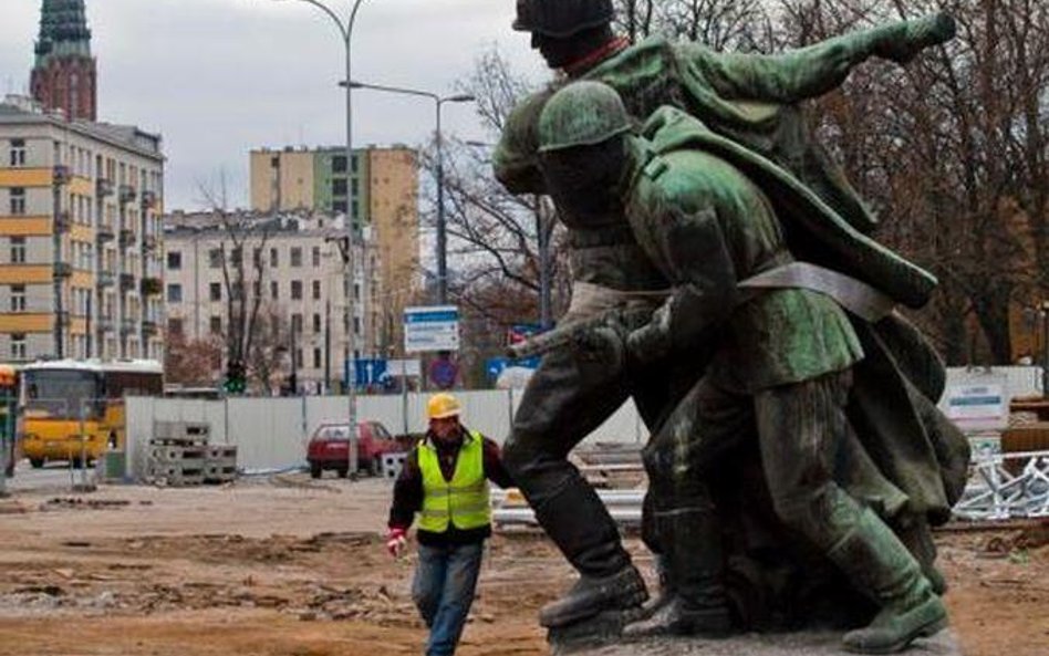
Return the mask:
M280 0L274 0L280 1ZM357 9L361 7L361 2L364 0L354 0L353 7L350 10L350 18L343 21L339 18L330 7L320 0L295 0L298 2L305 2L311 4L316 9L324 12L328 18L332 19L332 22L335 23L335 27L339 28L339 34L342 37L343 44L346 48L346 80L351 80L351 63L350 58L350 43L353 39L353 24L356 22ZM346 315L349 321L346 322L346 351L349 351L350 361L354 362L356 360L356 322L355 319L355 306L353 302L353 274L354 274L354 262L353 262L353 247L356 242L354 235L354 221L353 221L353 86L346 85L346 252L343 258L346 265L345 272L345 292L346 292ZM363 299L362 299L363 300ZM365 317L366 319L366 317ZM366 325L366 321L362 322L362 329ZM292 354L294 358L294 354ZM350 424L350 476L351 478L356 477L357 471L357 440L356 440L356 426L357 426L357 391L355 381L353 379L353 373L356 367L350 367L346 379L346 393L347 393L347 404L349 404L349 424Z

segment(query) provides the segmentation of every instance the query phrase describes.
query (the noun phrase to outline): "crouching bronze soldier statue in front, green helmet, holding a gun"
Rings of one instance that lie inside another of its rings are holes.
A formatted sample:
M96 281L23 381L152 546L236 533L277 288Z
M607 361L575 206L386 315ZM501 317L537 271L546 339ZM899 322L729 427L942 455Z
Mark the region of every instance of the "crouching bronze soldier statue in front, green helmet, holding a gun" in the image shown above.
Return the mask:
M839 483L835 468L861 441L850 418L854 379L885 379L884 372L861 367L866 344L879 351L875 357L887 351L864 342L858 325L894 322L893 305L920 306L935 279L852 229L770 160L674 107L657 110L643 134L631 133L616 92L596 82L554 94L538 128L542 170L559 207L617 199L638 244L674 285L652 321L626 336L627 362L688 357L697 341L714 345L709 360L695 362L702 378L645 452L650 485L663 501L657 516L674 535L663 546L677 593L627 633L713 633L728 624L720 531L706 481L720 455L746 448L750 438L777 518L877 607L868 626L845 634L844 647L890 653L933 635L946 625L946 610L875 509L894 516L922 508L944 518L959 492L964 438L920 427L863 436L873 459L882 448L923 444L924 450L907 447L905 457L939 486L935 499L925 498L922 483L896 479L882 489L903 500L868 503L862 490L850 493ZM799 261L791 241L811 240L823 241L825 254ZM824 265L837 264L835 251L851 251L852 268ZM913 403L927 412L923 398L915 393ZM894 478L889 460L876 467Z

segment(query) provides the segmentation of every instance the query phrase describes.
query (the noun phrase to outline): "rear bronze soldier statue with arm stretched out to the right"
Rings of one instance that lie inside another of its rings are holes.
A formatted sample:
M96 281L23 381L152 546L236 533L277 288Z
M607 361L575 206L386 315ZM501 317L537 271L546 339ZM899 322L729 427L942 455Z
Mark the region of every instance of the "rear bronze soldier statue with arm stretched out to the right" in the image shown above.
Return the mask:
M600 80L623 97L632 116L645 117L659 105L676 105L716 133L791 170L839 216L870 231L873 215L844 176L806 133L796 103L834 88L849 71L871 56L905 62L921 49L953 34L943 15L899 22L785 53L716 53L702 44L653 37L635 45L611 30L611 0L519 0L515 29L529 31L551 67L570 80ZM496 175L515 192L543 192L538 168L538 118L557 85L526 98L508 119L495 155ZM600 309L630 305L622 330L652 309L668 287L664 274L638 248L621 204L594 197L559 206L572 247L573 305L565 320L592 316ZM645 302L647 300L647 304ZM640 310L640 312L635 311ZM613 332L619 329L612 329ZM656 433L669 409L698 375L679 372L679 362L637 363L627 372L622 354L580 348L548 353L524 393L506 444L507 466L550 538L580 572L562 600L546 606L540 622L563 626L604 610L631 607L646 596L644 584L620 544L611 517L596 494L568 462L568 452L633 395L648 428ZM655 492L655 490L653 490ZM646 499L646 507L656 499ZM664 506L674 506L666 501ZM586 524L573 517L591 518ZM675 527L651 522L645 541L679 542ZM689 534L695 535L695 531ZM697 537L698 541L699 538ZM694 550L699 550L696 545ZM714 613L698 628L720 633L724 615Z

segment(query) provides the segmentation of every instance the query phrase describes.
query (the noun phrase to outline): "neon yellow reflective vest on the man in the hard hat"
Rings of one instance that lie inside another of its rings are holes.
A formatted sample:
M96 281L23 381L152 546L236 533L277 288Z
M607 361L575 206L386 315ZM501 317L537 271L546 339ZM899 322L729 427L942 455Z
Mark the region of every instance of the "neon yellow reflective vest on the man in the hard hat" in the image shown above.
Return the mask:
M419 470L423 472L419 529L444 533L449 522L460 530L480 529L491 523L484 441L476 431L463 440L450 481L446 481L440 472L437 449L428 440L419 445Z

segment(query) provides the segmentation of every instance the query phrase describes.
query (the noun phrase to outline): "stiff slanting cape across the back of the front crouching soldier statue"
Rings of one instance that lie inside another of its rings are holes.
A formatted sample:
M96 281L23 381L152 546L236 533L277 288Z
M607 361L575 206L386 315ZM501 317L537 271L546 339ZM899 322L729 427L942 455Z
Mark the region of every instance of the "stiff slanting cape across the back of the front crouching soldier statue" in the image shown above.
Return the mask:
M772 160L725 138L681 110L657 110L642 128L655 155L697 148L736 166L769 197L790 251L877 288L908 308L922 308L936 278L866 237L842 219L793 175Z

